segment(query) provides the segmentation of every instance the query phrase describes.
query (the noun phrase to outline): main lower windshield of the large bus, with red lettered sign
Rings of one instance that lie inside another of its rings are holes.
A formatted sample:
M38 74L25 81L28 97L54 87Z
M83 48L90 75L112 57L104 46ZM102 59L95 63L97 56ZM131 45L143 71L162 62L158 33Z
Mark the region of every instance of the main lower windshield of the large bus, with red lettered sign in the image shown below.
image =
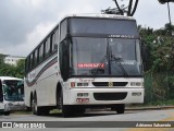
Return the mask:
M138 39L72 38L72 75L139 76L142 74Z

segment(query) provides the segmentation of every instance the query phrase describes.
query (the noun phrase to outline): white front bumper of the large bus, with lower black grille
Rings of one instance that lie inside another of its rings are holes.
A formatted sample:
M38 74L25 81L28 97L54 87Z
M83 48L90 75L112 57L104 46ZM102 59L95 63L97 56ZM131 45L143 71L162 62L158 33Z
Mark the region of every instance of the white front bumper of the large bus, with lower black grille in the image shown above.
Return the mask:
M114 105L144 103L144 88L72 88L64 105Z

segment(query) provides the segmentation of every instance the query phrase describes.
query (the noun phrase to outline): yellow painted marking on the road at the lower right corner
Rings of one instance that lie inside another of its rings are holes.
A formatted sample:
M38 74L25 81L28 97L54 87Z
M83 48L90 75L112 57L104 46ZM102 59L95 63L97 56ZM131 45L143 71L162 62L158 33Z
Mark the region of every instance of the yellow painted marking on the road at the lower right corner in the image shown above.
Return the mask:
M170 117L162 119L157 122L162 122L162 121L174 121L174 111L169 111ZM140 122L140 121L139 121ZM127 131L173 131L173 128L132 128L128 129Z

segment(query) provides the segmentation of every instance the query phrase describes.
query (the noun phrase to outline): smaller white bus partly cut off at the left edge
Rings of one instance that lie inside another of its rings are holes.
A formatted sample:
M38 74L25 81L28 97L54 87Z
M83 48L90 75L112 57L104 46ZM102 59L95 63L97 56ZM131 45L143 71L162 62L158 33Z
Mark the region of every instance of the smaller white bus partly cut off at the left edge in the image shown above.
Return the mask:
M0 76L0 112L24 110L24 81L12 76Z

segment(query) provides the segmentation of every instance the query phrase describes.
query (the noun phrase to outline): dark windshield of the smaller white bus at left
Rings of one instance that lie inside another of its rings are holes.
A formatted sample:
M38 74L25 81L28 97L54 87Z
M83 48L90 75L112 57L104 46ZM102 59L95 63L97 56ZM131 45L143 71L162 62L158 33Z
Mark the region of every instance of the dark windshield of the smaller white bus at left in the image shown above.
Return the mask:
M5 80L3 81L3 90L5 100L24 100L23 81Z

